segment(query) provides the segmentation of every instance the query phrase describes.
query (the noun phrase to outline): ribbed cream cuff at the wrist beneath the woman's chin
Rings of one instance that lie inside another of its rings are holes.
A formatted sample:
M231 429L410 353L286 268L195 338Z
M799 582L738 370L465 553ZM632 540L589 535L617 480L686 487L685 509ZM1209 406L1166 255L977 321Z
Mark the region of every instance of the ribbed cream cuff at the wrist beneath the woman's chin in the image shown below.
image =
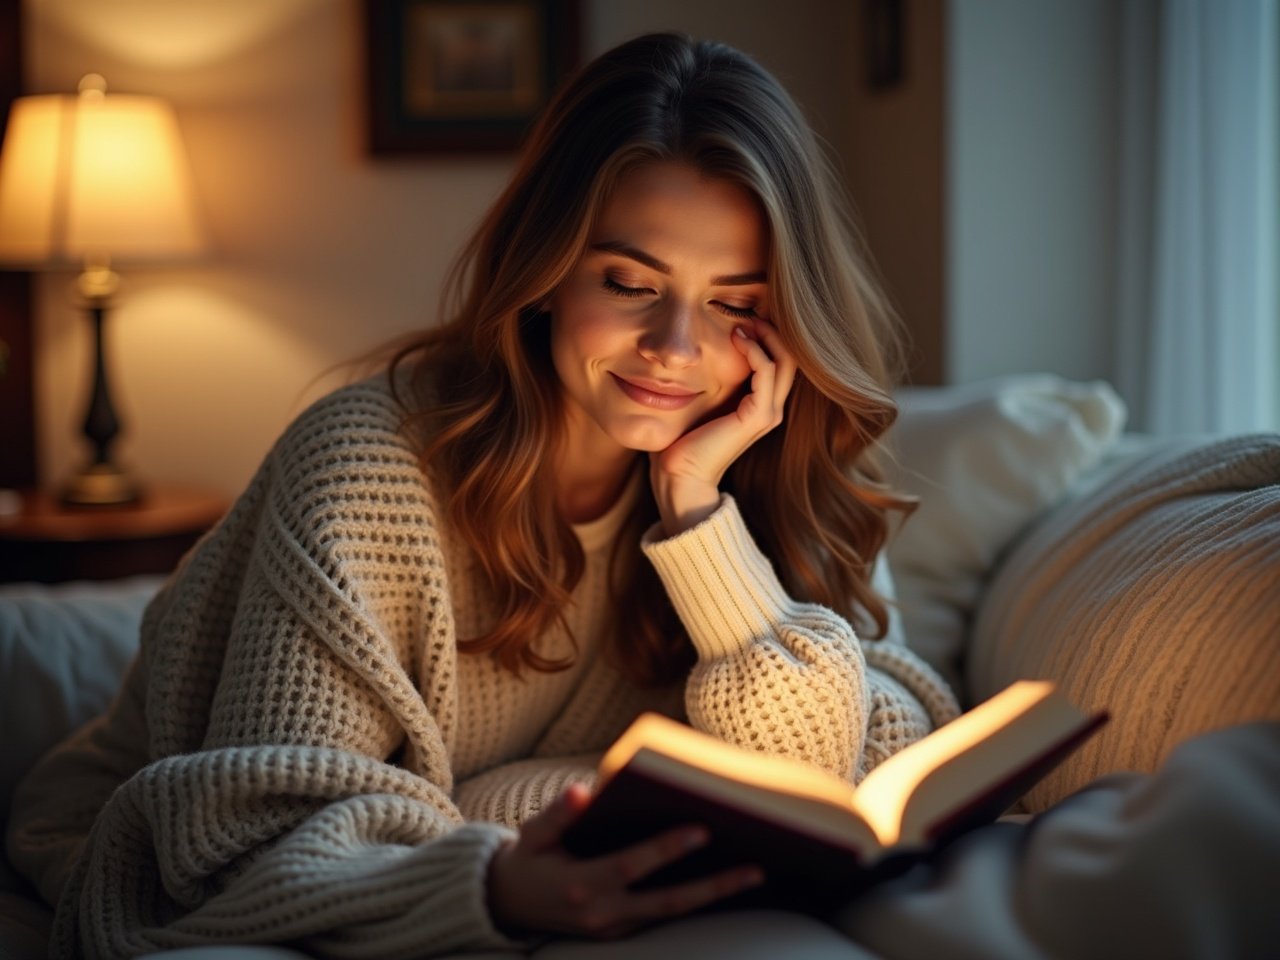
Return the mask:
M721 506L701 524L660 535L655 524L640 547L701 658L731 655L774 632L790 599L732 497L721 494Z

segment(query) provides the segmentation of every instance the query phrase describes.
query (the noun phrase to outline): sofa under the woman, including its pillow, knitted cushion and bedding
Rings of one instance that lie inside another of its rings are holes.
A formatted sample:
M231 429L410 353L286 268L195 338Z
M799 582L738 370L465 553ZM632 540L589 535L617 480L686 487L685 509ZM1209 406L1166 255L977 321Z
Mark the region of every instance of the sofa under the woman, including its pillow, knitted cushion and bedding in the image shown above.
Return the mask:
M1043 677L1110 722L833 925L709 914L536 956L1280 955L1280 434L1138 436L1107 384L1051 375L900 402L891 471L920 506L887 557L908 643L968 704ZM106 705L159 584L0 585L0 822ZM44 956L51 919L0 860L0 957Z

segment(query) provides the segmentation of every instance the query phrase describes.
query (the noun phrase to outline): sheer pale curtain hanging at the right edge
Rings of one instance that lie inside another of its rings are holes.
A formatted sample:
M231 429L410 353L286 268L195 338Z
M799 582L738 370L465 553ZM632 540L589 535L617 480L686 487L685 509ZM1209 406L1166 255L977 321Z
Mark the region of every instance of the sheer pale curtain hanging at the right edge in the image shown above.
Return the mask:
M1280 3L1123 10L1116 383L1130 425L1280 429Z

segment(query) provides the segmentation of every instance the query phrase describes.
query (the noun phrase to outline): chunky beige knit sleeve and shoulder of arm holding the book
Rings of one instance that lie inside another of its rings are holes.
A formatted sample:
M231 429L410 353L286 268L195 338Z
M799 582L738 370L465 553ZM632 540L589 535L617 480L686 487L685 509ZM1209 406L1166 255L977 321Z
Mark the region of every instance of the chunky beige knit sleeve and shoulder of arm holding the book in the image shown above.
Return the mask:
M148 608L145 755L61 883L56 955L515 946L485 890L512 831L465 824L452 799L452 614L398 422L367 387L310 410ZM113 768L91 756L104 742L37 768L29 823L35 799L77 791L54 773Z

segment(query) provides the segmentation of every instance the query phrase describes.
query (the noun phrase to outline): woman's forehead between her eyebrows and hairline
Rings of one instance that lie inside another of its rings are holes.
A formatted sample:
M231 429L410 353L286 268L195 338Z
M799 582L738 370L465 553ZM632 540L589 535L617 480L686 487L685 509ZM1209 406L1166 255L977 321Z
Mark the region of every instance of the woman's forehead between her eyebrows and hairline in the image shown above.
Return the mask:
M684 164L648 164L623 174L596 218L593 242L622 241L662 260L733 260L762 270L768 228L755 196Z

